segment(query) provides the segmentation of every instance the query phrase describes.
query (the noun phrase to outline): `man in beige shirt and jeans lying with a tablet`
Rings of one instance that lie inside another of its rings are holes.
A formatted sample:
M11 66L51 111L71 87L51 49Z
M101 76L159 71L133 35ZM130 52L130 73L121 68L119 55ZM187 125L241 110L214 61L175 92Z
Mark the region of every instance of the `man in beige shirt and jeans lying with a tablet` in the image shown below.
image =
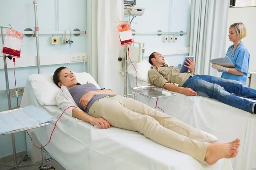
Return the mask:
M239 96L256 100L256 90L245 87L241 82L227 80L213 76L196 75L194 61L188 59L188 73L179 73L180 69L168 66L164 57L153 52L149 56L151 70L148 77L151 84L165 88L169 91L185 94L186 96L207 96L242 109L250 113L256 113L256 102L240 98ZM170 83L177 83L179 86ZM236 94L237 96L233 95Z

